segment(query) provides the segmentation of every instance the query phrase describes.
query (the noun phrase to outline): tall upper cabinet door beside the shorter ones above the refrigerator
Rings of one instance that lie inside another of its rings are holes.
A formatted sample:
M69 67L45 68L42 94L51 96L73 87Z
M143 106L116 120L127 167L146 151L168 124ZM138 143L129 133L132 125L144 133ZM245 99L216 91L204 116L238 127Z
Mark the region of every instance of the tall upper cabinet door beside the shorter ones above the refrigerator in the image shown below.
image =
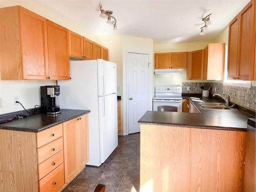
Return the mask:
M47 37L50 79L70 79L68 29L47 20Z

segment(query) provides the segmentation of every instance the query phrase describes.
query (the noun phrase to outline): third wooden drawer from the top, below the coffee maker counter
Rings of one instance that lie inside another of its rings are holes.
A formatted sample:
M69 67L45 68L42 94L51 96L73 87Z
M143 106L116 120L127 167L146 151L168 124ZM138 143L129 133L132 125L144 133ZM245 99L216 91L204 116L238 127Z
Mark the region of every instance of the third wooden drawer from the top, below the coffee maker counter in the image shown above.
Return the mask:
M38 165L38 179L45 177L53 169L63 163L63 150Z

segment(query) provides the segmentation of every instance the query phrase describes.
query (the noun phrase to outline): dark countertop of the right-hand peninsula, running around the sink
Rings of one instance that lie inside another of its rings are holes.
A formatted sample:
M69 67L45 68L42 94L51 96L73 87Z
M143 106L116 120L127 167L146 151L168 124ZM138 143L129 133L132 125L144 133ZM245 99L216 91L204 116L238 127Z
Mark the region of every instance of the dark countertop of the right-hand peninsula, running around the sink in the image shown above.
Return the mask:
M194 96L193 97L198 97ZM189 98L184 96L184 98ZM217 97L198 97L204 102L223 102ZM195 127L201 129L246 131L248 118L255 118L243 111L205 110L197 102L190 102L200 113L177 113L147 111L138 121L140 124L159 124L168 126Z

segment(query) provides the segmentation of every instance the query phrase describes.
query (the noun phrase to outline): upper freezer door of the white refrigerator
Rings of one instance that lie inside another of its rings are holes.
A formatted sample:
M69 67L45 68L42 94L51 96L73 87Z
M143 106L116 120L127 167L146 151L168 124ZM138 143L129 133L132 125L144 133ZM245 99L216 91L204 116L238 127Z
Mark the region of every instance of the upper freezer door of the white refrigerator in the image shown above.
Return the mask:
M117 92L116 63L97 60L98 63L98 95L109 95Z

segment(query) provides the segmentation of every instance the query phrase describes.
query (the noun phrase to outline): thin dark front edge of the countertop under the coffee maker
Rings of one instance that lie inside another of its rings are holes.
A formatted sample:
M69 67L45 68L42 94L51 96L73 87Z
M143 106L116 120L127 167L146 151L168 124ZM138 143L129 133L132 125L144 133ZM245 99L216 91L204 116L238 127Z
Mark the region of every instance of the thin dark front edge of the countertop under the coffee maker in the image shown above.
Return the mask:
M70 116L69 118L67 118L67 119L65 119L65 120L58 121L58 122L56 122L56 123L52 123L52 124L49 124L49 125L47 125L47 126L42 126L42 127L39 128L39 129L28 129L28 128L20 128L20 127L12 127L12 126L3 126L3 125L0 125L0 130L38 133L38 132L41 132L41 131L44 131L44 130L49 129L49 128L52 127L52 126L55 126L55 125L58 125L58 124L60 124L60 123L69 121L69 120L71 120L71 119L74 119L74 118L79 117L79 116L81 116L81 115L88 114L88 113L90 113L90 112L91 112L90 110L86 110L86 111L81 112L81 113L79 113L79 114L77 114L77 115Z

